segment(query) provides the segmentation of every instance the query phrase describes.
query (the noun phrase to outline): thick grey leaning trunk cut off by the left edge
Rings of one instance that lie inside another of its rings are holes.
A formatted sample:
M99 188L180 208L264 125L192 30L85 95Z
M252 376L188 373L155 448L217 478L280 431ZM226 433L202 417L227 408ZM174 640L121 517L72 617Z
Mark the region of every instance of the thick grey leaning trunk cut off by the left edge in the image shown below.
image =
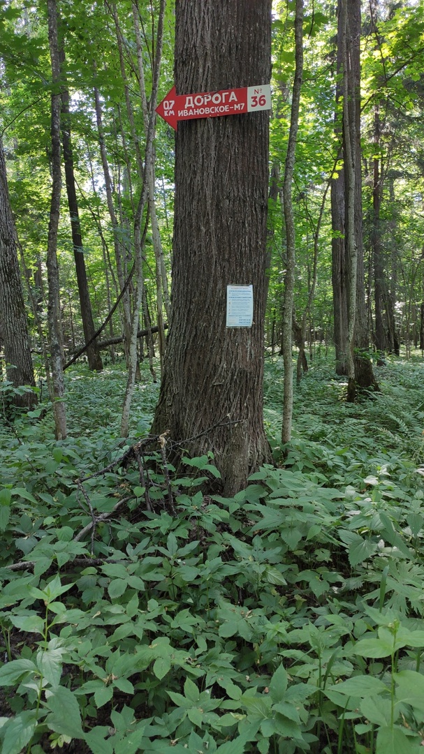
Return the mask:
M0 327L5 350L6 376L15 388L35 385L22 282L17 260L17 238L9 201L5 152L0 136ZM14 397L20 406L32 406L36 394Z

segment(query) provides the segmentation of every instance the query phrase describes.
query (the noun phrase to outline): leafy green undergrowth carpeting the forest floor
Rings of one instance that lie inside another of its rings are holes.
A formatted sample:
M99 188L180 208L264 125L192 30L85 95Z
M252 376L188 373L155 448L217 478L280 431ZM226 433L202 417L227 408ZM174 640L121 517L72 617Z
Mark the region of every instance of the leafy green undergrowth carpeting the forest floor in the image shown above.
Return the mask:
M267 360L275 467L235 498L149 449L147 377L118 440L117 367L71 372L63 442L0 423L2 754L422 752L423 372L349 406L314 364L283 466Z

